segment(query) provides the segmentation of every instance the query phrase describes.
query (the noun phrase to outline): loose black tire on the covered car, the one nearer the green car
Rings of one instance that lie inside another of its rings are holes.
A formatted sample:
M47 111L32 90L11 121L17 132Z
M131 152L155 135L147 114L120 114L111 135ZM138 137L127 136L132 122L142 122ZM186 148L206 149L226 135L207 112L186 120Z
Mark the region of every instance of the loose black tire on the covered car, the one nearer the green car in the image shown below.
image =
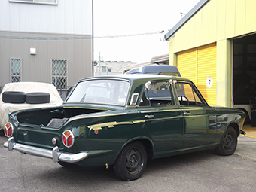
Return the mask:
M29 104L41 104L49 103L50 94L49 93L26 93L26 103Z

